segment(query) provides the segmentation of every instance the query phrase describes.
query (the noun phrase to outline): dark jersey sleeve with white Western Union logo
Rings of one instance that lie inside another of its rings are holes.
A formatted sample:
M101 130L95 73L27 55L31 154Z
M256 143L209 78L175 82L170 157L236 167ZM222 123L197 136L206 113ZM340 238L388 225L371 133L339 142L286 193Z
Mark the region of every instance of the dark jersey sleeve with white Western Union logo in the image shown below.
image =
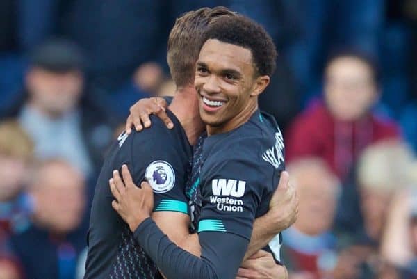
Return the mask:
M245 154L215 162L208 168L210 173L202 179L198 232L227 232L250 240L261 202L269 203L264 198L265 187L272 183L274 172L266 172L259 160Z

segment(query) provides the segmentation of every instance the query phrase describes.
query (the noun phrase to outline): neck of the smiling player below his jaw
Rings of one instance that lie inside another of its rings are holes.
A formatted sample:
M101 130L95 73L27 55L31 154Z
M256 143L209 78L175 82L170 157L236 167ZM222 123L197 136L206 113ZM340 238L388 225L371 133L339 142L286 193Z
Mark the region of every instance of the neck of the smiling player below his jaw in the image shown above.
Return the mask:
M219 126L207 125L208 136L213 135L213 134L227 133L228 131L234 130L242 126L247 121L249 121L249 119L252 117L252 115L255 113L257 109L258 109L258 99L254 97L254 99L249 102L249 104L245 107L245 109L243 109L243 111L240 111L240 113L234 116L234 118L231 118L231 120Z

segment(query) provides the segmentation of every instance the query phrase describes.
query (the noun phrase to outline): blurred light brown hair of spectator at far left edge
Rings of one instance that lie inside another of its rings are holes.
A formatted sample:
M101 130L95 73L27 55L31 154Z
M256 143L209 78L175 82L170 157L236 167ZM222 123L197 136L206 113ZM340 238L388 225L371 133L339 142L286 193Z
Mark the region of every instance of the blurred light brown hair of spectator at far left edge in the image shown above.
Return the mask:
M16 120L0 122L0 155L30 161L33 141Z

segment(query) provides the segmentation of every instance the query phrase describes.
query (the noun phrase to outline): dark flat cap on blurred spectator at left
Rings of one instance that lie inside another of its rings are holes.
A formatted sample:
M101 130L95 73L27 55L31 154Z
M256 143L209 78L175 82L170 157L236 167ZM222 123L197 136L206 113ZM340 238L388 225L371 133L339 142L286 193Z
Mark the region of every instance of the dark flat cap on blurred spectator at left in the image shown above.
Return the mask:
M74 42L65 39L51 39L33 49L29 63L52 72L83 70L83 51Z

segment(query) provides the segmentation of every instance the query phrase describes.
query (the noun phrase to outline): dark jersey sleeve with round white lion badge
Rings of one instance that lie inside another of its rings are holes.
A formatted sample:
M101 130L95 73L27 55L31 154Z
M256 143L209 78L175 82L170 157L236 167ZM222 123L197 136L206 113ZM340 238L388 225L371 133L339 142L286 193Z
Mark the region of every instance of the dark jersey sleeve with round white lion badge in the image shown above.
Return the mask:
M158 124L161 123L126 136L126 142L120 146L125 161L120 160L119 167L128 165L136 185L143 180L149 182L155 193L154 211L188 214L184 185L189 158L177 143L175 128L170 130Z

